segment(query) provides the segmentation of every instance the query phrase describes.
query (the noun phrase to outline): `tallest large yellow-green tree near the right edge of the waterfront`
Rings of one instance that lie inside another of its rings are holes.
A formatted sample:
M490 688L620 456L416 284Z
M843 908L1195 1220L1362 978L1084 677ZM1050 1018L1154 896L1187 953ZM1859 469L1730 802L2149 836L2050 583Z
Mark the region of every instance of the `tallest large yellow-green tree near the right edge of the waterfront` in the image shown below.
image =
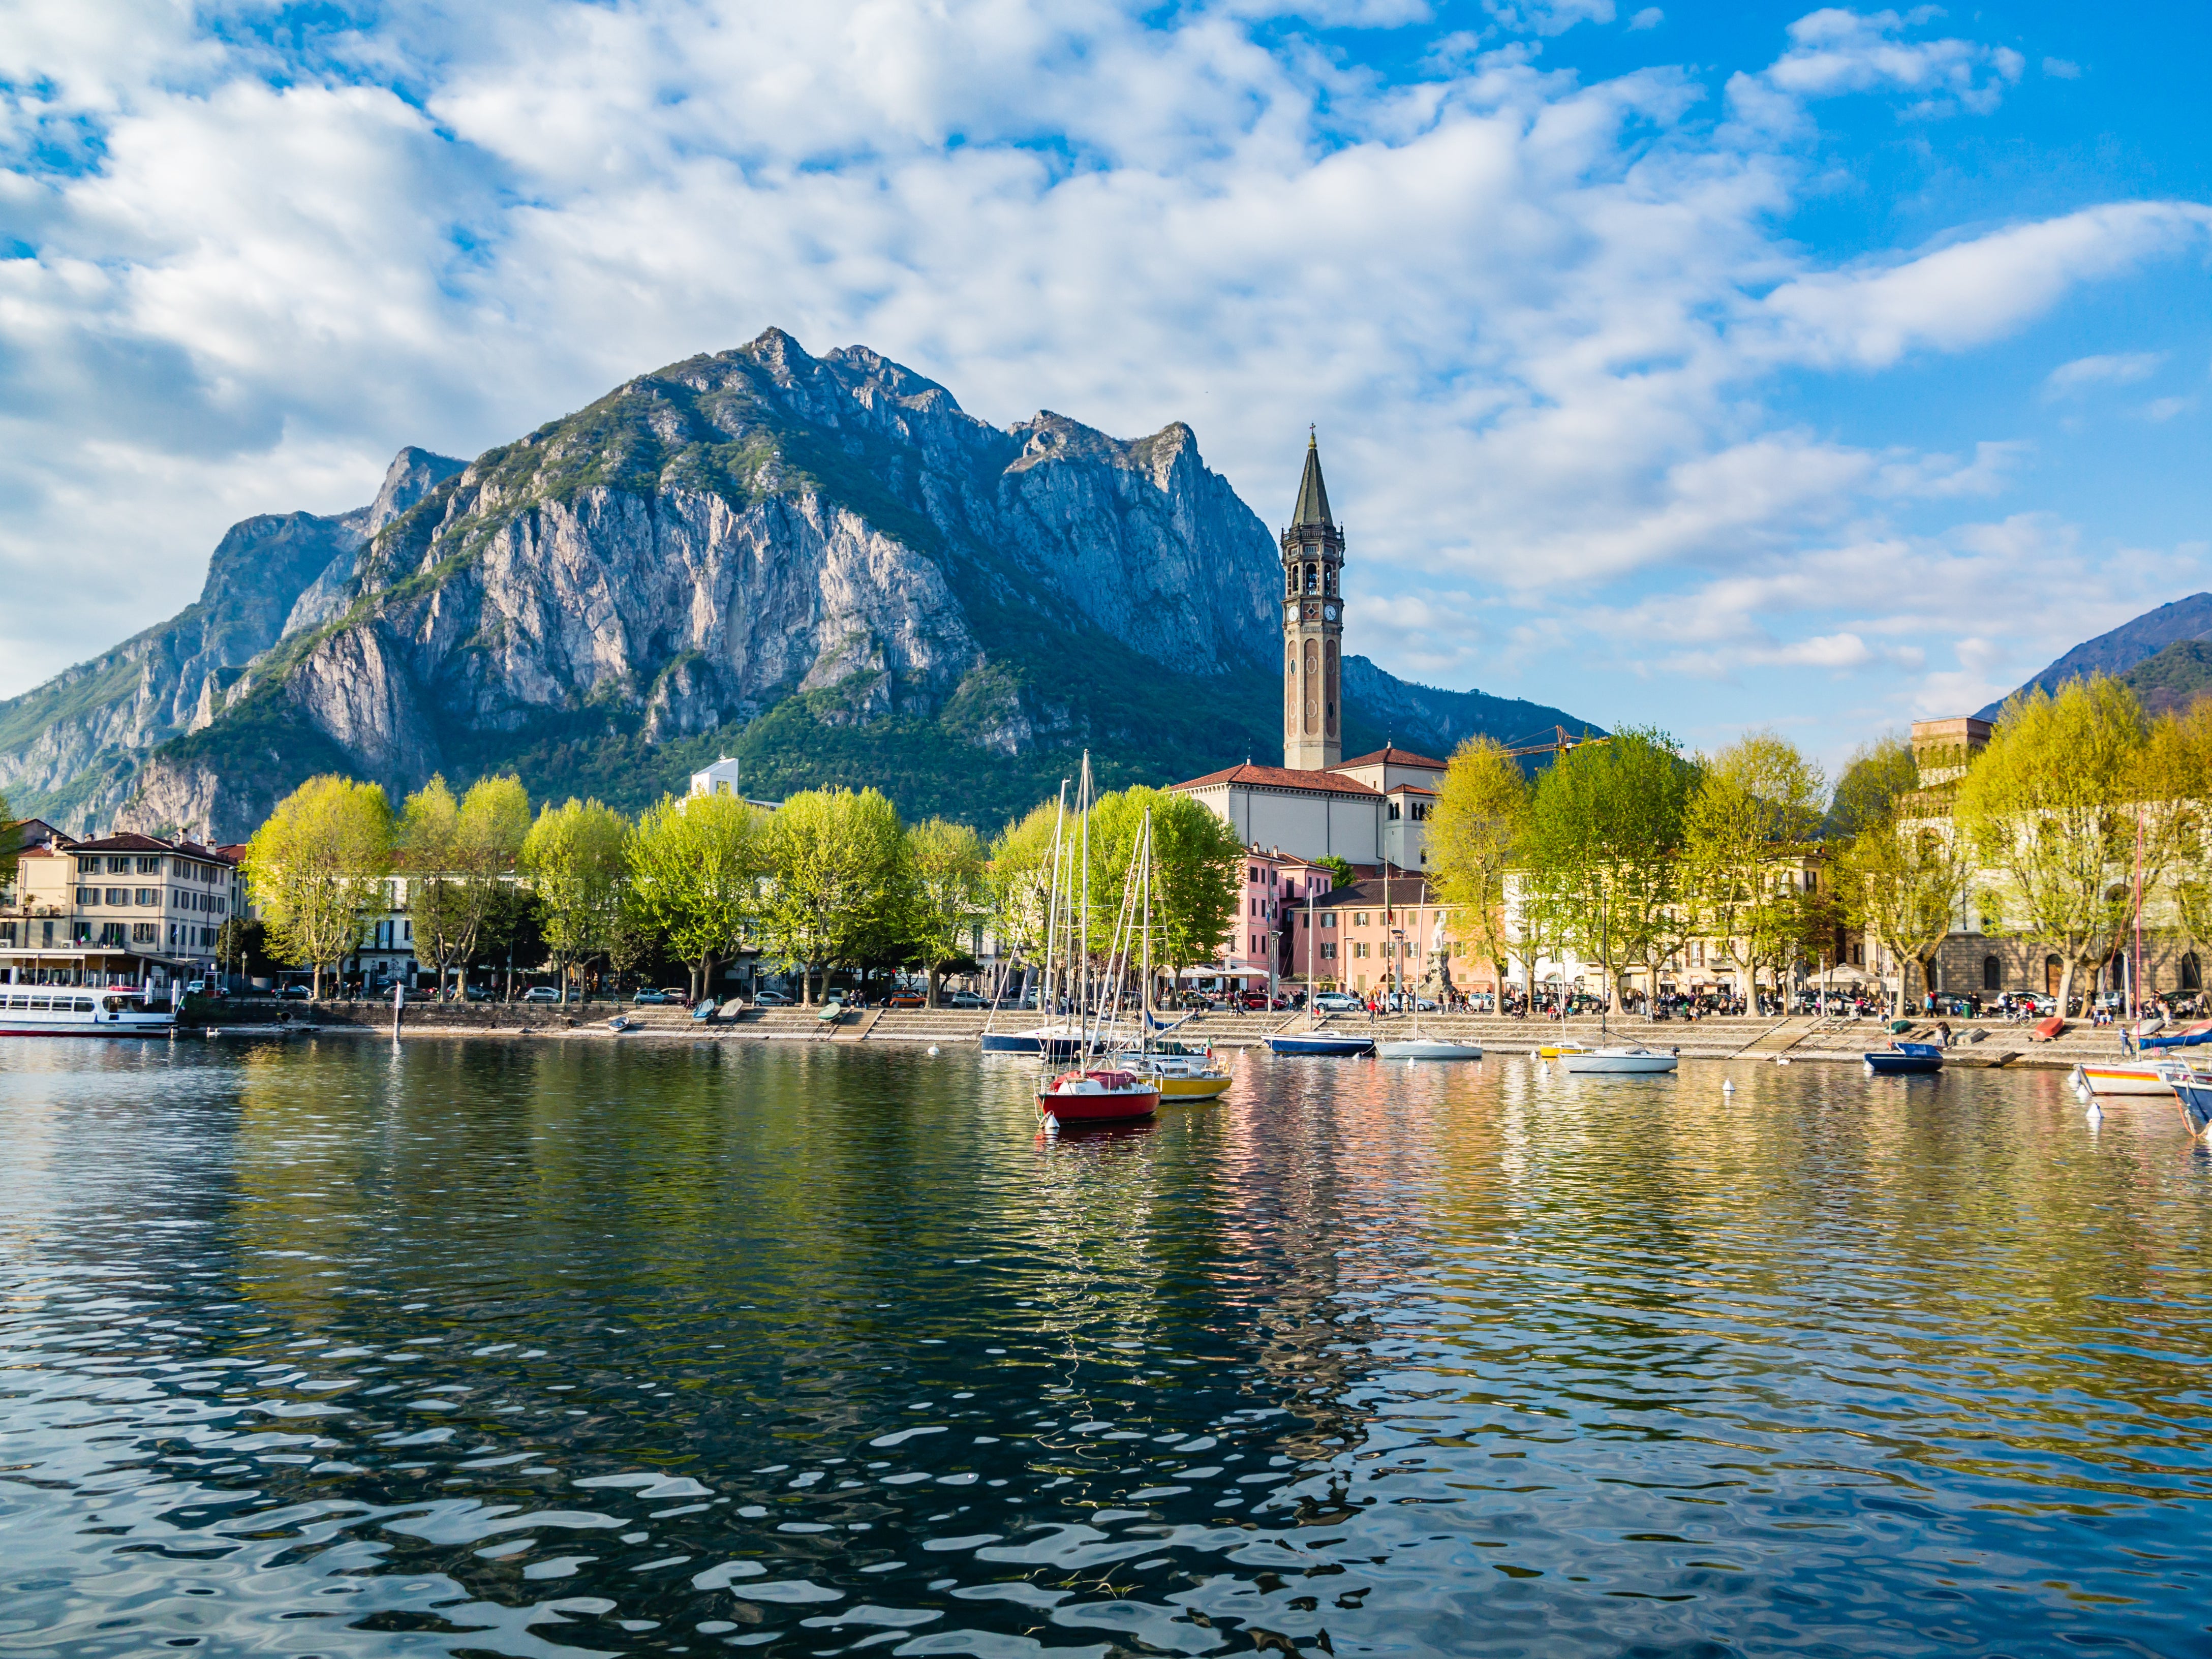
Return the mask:
M2057 953L2062 1013L2075 971L2106 962L2135 914L2137 812L2161 794L2154 763L2135 692L2093 675L2006 703L1960 783L1958 823L2002 878L1997 927ZM2146 843L2146 885L2166 854L2163 834Z

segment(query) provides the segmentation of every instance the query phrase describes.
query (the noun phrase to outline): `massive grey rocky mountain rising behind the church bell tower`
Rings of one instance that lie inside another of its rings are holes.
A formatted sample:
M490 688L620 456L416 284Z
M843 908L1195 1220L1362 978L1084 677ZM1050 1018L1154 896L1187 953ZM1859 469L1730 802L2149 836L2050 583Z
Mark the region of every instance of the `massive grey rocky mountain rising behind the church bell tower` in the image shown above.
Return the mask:
M1276 584L1188 427L1000 429L770 330L467 465L405 449L354 513L234 526L175 622L0 703L0 790L234 838L323 770L637 807L737 754L748 792L995 825L1082 748L1108 787L1279 752ZM1579 726L1345 664L1347 752L1551 723Z

